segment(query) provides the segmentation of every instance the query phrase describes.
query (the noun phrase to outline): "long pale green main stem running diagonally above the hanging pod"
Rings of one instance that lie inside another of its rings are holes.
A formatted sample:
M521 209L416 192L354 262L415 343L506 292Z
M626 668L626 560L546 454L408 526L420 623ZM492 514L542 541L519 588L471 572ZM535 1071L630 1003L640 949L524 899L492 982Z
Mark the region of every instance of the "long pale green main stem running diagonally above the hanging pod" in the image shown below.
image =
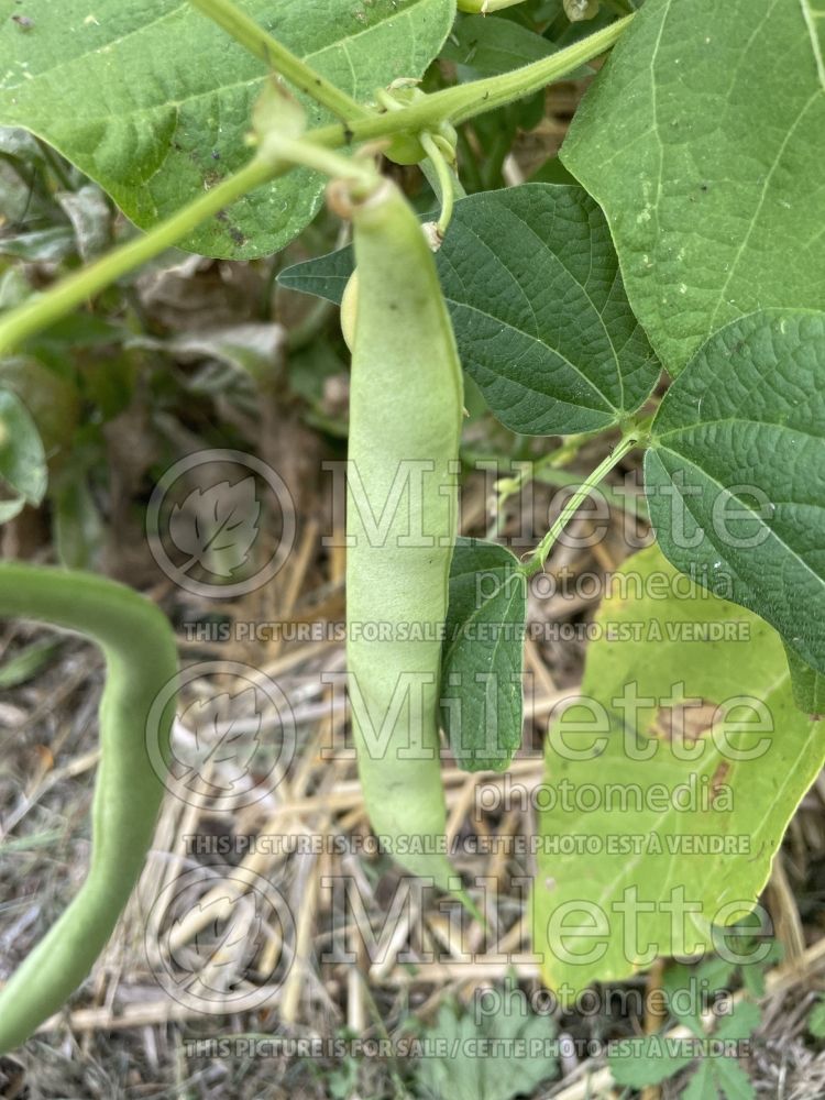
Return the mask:
M197 2L200 3L201 0ZM490 77L486 80L475 80L455 88L446 88L397 111L371 114L343 124L337 123L310 130L300 139L300 143L332 150L353 141L437 130L439 123L447 120L466 121L475 114L483 114L485 111L492 111L529 96L546 84L566 76L584 62L597 57L618 40L632 18L628 15L618 20L550 57L514 69L512 73ZM311 155L311 152L307 153L304 163L308 163ZM240 172L228 176L145 235L121 245L90 266L62 279L44 294L30 298L22 306L10 310L0 319L0 355L9 353L23 340L58 321L130 271L177 244L201 222L220 213L256 187L284 175L290 164L275 157L258 154ZM316 157L315 161L314 166L323 170L321 158Z

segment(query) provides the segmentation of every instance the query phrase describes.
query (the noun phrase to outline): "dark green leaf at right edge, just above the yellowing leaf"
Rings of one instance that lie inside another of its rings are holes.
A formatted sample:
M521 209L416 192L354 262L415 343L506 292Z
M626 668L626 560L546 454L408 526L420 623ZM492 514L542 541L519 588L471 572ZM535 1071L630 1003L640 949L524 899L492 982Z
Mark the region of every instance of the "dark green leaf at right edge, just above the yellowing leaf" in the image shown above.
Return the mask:
M661 404L645 481L673 564L825 672L825 314L712 337Z

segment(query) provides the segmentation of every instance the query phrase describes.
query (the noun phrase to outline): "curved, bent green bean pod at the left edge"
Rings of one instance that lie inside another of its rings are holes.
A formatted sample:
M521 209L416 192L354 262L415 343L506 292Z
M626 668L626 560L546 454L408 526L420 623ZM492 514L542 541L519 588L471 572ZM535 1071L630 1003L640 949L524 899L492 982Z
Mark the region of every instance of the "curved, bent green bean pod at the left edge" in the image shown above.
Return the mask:
M106 947L143 869L164 793L147 728L158 693L168 693L148 736L168 762L177 675L165 616L143 596L105 578L0 564L0 616L35 619L88 635L106 657L99 708L100 765L92 803L92 850L77 894L0 991L0 1054L20 1046L69 998Z

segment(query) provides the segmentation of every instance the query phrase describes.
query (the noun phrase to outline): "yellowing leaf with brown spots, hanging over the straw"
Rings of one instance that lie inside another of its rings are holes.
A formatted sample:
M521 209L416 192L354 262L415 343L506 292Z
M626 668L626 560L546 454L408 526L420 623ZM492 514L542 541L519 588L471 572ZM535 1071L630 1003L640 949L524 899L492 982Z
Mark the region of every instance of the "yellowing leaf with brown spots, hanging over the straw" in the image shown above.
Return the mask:
M595 625L536 793L535 947L573 990L711 948L756 903L825 757L779 636L658 547L620 566Z

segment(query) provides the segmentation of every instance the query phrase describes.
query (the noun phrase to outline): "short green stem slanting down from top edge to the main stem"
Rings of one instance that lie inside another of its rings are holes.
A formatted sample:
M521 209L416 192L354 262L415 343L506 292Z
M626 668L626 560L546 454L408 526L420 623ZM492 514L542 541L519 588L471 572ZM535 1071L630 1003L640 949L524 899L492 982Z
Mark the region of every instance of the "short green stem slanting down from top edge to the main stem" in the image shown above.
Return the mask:
M299 91L329 108L333 114L348 121L370 116L371 112L365 107L316 73L311 65L307 65L277 38L273 38L231 0L190 0L190 2L251 54L286 77Z

